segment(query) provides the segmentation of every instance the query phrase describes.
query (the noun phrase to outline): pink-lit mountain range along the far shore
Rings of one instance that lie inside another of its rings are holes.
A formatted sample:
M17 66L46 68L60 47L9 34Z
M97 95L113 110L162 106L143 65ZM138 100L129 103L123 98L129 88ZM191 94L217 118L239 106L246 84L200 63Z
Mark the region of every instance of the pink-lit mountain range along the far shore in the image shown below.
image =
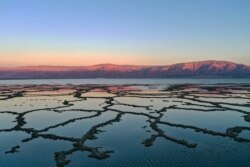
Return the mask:
M250 66L228 61L199 61L165 66L0 67L0 79L69 78L250 78Z

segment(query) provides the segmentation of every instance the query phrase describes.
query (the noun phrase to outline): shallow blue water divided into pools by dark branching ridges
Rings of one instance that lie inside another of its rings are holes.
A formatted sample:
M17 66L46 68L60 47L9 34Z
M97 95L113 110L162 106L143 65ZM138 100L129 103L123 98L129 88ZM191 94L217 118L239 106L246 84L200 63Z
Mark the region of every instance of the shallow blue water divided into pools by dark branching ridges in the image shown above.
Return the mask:
M250 85L0 86L0 167L250 166Z

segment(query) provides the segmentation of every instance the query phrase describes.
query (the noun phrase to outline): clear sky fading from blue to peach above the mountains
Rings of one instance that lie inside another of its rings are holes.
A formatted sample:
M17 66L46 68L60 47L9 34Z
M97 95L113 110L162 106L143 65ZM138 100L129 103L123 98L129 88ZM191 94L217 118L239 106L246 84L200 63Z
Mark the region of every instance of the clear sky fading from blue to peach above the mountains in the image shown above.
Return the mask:
M250 64L249 0L0 0L0 66Z

